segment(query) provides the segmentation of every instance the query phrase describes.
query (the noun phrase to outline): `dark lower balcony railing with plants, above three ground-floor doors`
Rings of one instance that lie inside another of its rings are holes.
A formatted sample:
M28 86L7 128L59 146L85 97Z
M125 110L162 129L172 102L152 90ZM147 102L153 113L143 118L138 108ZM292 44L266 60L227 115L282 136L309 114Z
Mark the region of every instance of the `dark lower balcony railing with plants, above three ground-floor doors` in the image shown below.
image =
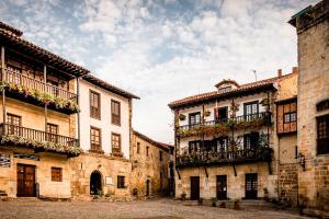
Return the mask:
M271 157L272 149L263 146L254 149L236 149L230 151L201 150L177 155L175 165L179 168L189 168L271 161Z

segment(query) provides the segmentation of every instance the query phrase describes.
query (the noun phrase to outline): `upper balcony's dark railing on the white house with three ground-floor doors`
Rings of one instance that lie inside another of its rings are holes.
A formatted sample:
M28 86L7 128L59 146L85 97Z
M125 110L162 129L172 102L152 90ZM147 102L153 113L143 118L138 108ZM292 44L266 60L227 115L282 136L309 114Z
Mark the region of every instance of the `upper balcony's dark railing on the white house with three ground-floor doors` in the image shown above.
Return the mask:
M218 124L223 125L239 125L242 123L252 123L252 122L262 122L262 123L271 123L271 113L270 112L262 112L257 114L249 114L242 116L236 116L234 118L222 118L216 120L209 120L198 124L189 124L184 126L179 126L178 130L191 130L200 127L211 127Z

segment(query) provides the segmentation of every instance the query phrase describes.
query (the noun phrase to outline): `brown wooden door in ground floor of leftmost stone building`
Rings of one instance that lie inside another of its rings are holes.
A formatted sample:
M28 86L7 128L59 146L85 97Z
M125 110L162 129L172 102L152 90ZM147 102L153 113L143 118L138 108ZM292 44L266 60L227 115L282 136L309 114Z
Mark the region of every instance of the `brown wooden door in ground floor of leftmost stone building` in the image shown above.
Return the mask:
M35 196L35 166L18 164L18 197Z

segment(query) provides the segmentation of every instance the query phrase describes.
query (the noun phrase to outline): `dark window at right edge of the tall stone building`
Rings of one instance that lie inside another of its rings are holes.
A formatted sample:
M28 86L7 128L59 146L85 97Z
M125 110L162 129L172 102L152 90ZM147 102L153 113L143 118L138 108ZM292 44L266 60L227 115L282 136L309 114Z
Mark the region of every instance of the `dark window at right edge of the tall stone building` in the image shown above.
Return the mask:
M317 117L317 152L329 153L329 114Z

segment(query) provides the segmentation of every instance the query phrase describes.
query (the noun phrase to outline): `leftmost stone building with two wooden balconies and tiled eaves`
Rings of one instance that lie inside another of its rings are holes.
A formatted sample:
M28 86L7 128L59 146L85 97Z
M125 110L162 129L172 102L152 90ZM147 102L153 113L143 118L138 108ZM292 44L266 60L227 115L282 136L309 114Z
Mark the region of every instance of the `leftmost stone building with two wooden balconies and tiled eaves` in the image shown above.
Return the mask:
M0 191L70 198L70 159L81 152L77 78L89 71L0 22Z

